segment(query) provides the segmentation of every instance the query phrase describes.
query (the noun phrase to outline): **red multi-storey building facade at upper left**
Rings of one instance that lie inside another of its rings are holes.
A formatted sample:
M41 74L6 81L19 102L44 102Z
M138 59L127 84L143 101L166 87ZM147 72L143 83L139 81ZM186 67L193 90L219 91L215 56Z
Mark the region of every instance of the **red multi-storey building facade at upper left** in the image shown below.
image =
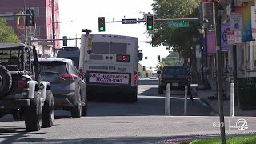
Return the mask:
M6 18L6 22L13 27L21 42L30 42L30 39L53 39L53 28L54 38L58 39L60 34L58 3L58 0L2 0L0 14L24 14L24 11L30 7L34 10L34 26L25 26L25 17ZM39 54L53 54L53 45L50 43L33 43L38 46ZM55 47L58 49L60 42L56 41Z

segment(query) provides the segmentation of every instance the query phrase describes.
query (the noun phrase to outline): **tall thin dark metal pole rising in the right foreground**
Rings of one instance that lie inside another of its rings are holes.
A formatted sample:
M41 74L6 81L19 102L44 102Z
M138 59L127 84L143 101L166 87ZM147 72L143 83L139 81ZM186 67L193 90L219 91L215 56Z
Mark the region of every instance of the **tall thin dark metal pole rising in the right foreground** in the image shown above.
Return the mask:
M215 28L215 38L216 42L216 58L217 58L217 80L218 80L218 106L219 106L219 120L220 120L220 131L221 131L221 143L226 144L225 136L225 121L223 114L223 94L222 94L222 58L221 58L221 17L218 14L218 2L214 3L214 28Z

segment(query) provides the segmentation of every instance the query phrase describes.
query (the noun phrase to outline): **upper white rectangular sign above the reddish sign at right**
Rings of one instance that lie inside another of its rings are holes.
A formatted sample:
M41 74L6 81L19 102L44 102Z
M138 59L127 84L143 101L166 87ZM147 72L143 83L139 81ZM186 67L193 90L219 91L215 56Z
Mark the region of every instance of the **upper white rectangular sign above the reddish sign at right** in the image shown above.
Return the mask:
M242 13L230 13L230 30L242 30Z

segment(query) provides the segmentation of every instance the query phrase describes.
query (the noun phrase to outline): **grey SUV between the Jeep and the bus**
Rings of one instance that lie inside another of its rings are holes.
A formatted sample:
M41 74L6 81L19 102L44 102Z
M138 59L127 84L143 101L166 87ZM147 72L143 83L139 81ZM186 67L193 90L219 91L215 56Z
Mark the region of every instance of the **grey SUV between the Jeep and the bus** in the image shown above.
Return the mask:
M55 110L70 110L72 118L87 115L86 83L74 62L66 58L40 58L42 80L49 81Z

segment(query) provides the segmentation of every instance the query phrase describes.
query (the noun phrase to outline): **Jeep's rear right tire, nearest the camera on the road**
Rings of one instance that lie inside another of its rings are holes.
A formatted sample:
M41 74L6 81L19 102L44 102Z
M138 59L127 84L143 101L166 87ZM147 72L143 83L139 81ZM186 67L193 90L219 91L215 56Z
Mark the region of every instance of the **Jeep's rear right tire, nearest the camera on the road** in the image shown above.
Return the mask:
M42 126L42 102L38 92L30 99L30 106L27 106L25 115L26 131L39 131Z

